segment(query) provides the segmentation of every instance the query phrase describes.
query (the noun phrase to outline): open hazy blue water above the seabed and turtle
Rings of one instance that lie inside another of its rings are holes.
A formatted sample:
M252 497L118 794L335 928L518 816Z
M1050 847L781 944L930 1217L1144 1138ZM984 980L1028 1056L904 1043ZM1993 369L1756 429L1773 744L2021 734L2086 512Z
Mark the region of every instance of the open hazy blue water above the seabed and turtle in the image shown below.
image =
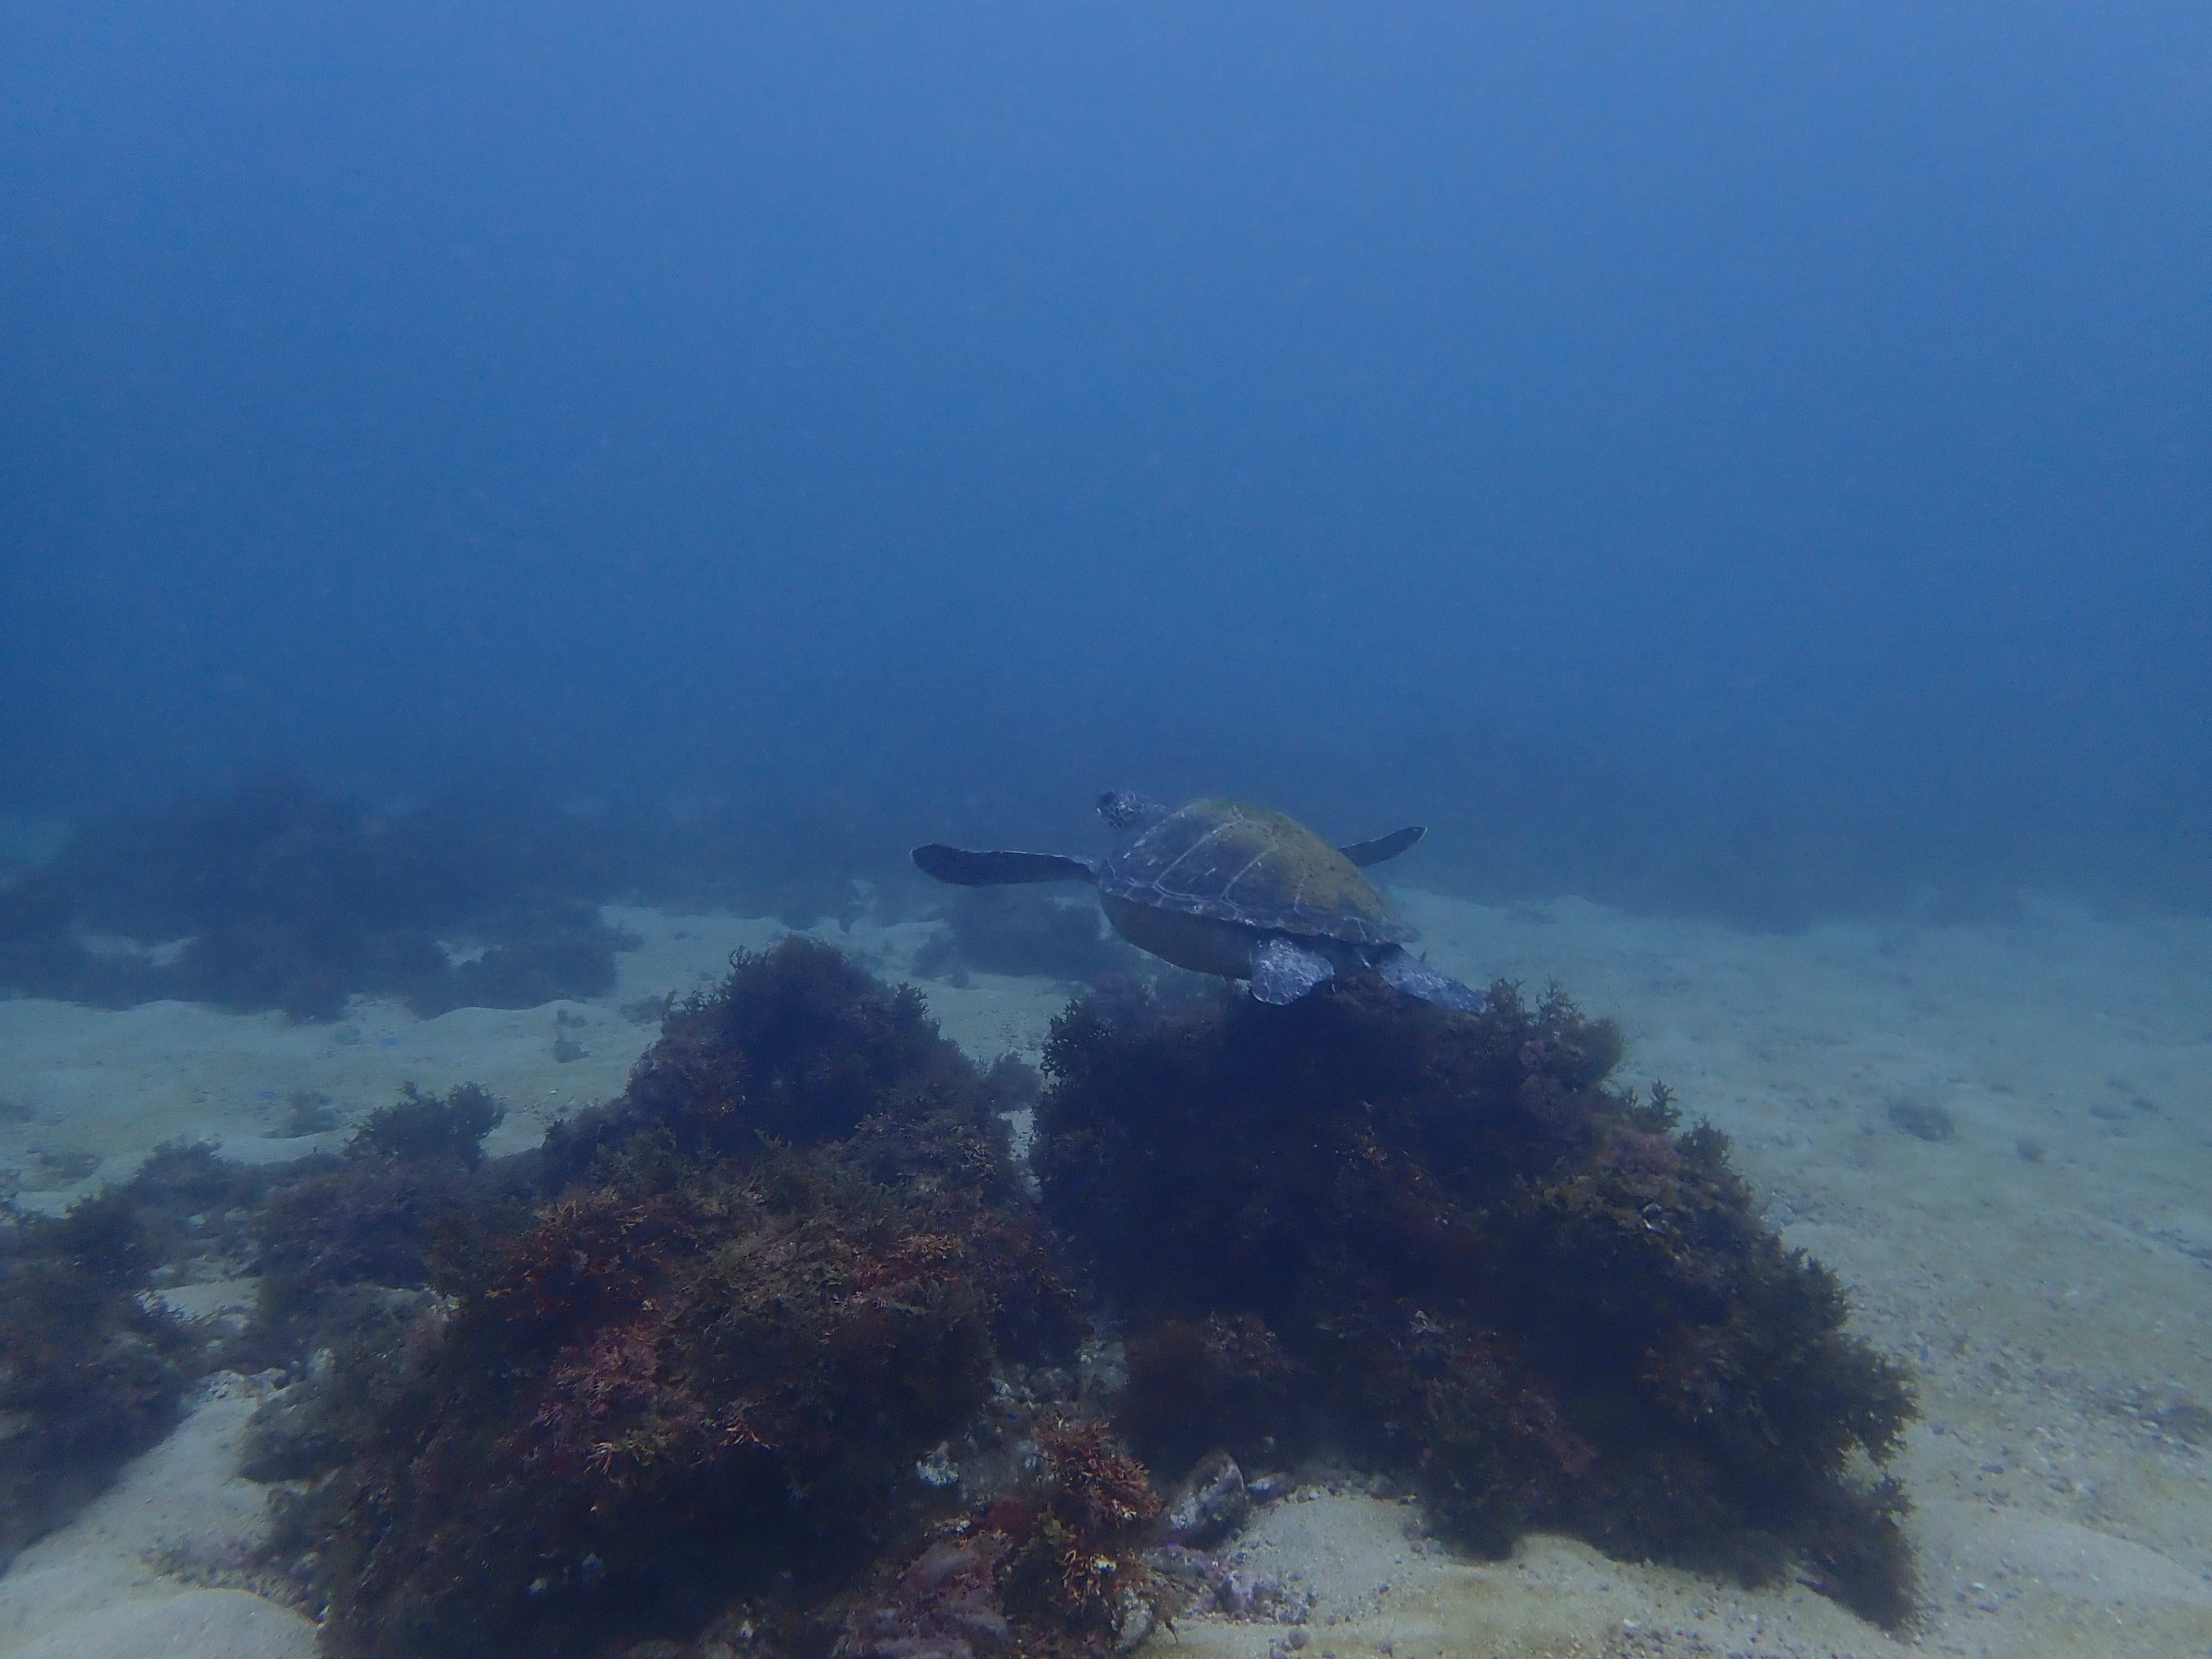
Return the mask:
M2201 4L0 33L4 812L887 867L1128 783L1475 896L2212 902Z

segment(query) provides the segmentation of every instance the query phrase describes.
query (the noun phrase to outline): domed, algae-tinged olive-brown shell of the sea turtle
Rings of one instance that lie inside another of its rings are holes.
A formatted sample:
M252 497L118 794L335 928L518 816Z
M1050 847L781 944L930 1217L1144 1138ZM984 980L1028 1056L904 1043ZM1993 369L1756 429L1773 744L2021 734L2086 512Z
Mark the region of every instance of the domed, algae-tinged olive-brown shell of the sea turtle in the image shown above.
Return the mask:
M1418 938L1380 887L1296 818L1245 801L1192 801L1115 852L1099 891L1217 922L1402 945Z

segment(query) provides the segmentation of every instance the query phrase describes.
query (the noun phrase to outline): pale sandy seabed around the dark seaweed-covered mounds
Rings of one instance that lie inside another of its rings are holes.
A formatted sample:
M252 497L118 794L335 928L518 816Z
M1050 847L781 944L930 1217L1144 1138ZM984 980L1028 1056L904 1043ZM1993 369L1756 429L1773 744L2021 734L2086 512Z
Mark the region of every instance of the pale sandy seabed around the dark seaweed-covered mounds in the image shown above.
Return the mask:
M1409 1504L1336 1482L1270 1504L1239 1544L1314 1595L1303 1630L1183 1619L1155 1655L2212 1652L2212 922L2031 900L2013 925L1761 936L1571 898L1400 898L1444 971L1559 980L1619 1020L1624 1079L1663 1079L1728 1130L1785 1239L1851 1287L1856 1329L1916 1367L1922 1420L1896 1467L1924 1615L1887 1637L1803 1586L1741 1590L1542 1535L1509 1562L1464 1562ZM515 1150L622 1091L657 1031L653 998L785 931L622 907L608 920L644 942L597 1002L416 1020L356 1000L336 1024L0 1002L0 1192L60 1210L175 1139L299 1157L403 1082L484 1084L509 1108L489 1146ZM931 927L823 933L896 980ZM1066 1000L993 975L925 989L980 1060L1035 1060ZM327 1095L341 1126L285 1137L301 1091ZM1924 1139L1942 1115L1949 1137ZM164 1294L219 1314L252 1285ZM18 1555L0 1659L314 1650L296 1613L190 1584L261 1526L261 1489L234 1475L254 1400L250 1378L208 1380L164 1444Z

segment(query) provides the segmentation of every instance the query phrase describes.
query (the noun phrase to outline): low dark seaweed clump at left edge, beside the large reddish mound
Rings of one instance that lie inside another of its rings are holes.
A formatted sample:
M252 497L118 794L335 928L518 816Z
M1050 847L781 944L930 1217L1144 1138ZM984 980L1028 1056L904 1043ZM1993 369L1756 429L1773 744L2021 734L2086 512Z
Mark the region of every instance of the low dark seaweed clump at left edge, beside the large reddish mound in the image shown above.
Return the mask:
M301 1095L292 1110L327 1102ZM392 1323L394 1303L411 1307L420 1292L407 1287L429 1276L438 1225L473 1221L513 1192L509 1172L482 1166L480 1139L498 1115L476 1086L445 1099L409 1088L338 1155L246 1166L208 1144L168 1144L60 1217L9 1214L0 1562L166 1433L195 1378L332 1338L358 1347ZM254 1321L188 1321L148 1294L248 1276L261 1279Z

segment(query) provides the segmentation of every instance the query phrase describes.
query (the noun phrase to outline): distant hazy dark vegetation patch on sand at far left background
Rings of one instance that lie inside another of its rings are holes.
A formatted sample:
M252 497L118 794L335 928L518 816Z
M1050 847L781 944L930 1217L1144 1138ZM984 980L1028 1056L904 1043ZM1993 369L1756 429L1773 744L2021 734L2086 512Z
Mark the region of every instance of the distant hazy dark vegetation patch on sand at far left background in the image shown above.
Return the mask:
M0 991L294 1018L334 1018L354 993L422 1015L604 995L630 945L593 902L611 883L573 825L385 814L261 776L88 823L0 889ZM482 949L456 964L447 938Z

